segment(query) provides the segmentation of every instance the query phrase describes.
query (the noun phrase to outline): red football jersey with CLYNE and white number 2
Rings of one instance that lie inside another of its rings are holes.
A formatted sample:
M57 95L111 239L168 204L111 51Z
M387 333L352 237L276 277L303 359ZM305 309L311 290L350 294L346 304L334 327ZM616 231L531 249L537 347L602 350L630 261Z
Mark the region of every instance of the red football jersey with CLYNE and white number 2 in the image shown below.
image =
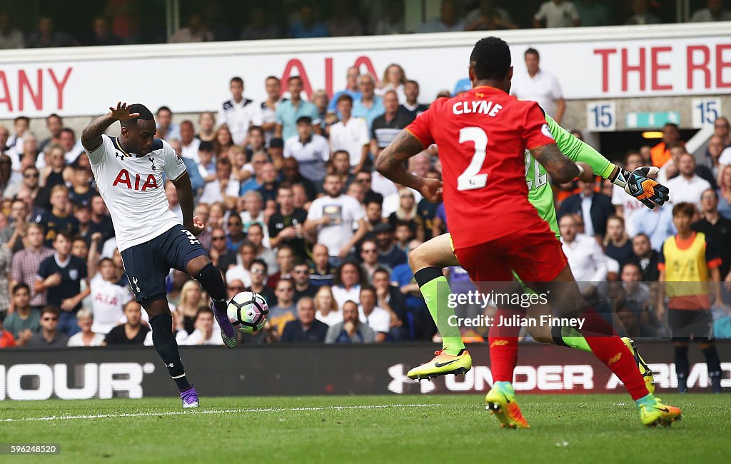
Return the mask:
M536 102L480 86L433 102L406 130L425 147L439 147L455 249L542 221L528 201L525 152L555 140Z

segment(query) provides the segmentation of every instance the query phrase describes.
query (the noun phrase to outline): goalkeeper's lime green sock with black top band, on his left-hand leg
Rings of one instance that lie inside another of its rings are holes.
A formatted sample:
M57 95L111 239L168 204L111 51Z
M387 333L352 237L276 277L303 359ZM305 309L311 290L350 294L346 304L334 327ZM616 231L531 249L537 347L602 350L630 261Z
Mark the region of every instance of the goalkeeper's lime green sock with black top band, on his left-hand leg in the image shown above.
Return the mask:
M442 349L451 356L458 355L464 349L464 343L459 327L449 323L450 316L455 316L452 318L452 322L455 322L456 315L454 308L449 305L452 289L447 278L438 267L425 267L414 274L414 278L429 308L431 319L434 319L436 330L442 335Z

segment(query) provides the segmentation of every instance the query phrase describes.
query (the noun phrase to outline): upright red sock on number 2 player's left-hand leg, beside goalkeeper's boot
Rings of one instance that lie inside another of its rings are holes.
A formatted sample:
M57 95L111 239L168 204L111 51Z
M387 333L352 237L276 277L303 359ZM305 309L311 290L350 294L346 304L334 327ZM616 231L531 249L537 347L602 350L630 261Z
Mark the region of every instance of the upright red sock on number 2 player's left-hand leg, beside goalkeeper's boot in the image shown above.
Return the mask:
M499 309L495 313L493 327L490 327L490 370L493 382L512 382L515 365L518 364L518 335L520 327L494 327L501 318L512 321L513 316L522 315L515 311Z

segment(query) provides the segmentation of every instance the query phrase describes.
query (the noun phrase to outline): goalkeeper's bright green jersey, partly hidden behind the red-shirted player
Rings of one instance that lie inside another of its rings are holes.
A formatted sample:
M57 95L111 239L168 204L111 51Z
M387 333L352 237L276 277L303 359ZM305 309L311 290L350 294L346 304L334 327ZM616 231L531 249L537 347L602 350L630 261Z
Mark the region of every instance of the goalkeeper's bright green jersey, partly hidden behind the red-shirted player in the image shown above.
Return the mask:
M546 115L548 129L556 140L556 145L561 153L573 161L580 161L591 166L594 174L608 178L615 166L598 151L591 148L581 140L578 140L566 129L559 126L549 115ZM556 237L561 237L558 232L558 221L556 221L556 207L553 204L553 189L548 181L548 172L545 168L526 151L526 181L528 182L529 202L538 210L539 216L548 222Z

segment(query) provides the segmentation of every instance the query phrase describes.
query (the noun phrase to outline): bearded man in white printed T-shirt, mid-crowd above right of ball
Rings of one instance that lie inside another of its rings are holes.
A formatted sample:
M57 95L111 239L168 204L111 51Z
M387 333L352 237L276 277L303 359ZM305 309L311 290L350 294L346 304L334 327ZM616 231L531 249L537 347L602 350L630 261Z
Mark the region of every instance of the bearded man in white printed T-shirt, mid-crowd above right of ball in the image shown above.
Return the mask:
M366 213L357 199L343 194L340 176L328 174L323 183L325 196L310 205L305 229L317 235L317 243L330 250L331 264L337 265L366 235ZM357 229L357 232L353 232Z

